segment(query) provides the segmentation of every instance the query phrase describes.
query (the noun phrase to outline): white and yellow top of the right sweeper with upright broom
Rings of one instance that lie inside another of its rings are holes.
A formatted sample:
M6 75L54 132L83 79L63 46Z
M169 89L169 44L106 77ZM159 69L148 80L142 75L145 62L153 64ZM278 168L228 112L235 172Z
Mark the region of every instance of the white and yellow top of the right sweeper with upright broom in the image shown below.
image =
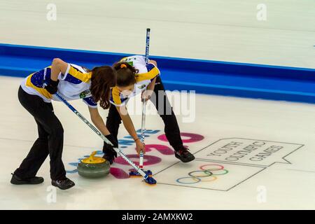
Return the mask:
M134 97L136 94L146 90L146 87L151 83L151 81L160 75L159 69L152 63L146 64L145 57L141 55L124 57L120 60L120 62L127 62L131 66L134 66L135 69L139 70L139 73L136 74L134 91L127 97L123 94L123 92L118 90L118 87L113 87L109 101L115 106L125 105L128 98Z

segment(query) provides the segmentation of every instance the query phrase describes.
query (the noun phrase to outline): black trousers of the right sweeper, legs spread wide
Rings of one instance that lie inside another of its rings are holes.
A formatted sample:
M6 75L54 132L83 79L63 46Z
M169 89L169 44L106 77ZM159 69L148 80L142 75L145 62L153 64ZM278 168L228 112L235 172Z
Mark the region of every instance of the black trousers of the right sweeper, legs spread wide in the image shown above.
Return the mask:
M165 87L160 76L158 76L155 81L154 93L155 94L153 94L151 97L151 102L153 102L155 105L155 108L158 110L158 114L165 124L165 135L167 140L175 151L179 151L179 149L183 148L179 124L177 123L172 106L169 104L169 99L167 99ZM120 124L120 115L116 109L116 106L112 104L109 108L109 116L107 116L106 127L109 129L109 132L113 134L113 137L116 139L116 141L118 140L117 136Z

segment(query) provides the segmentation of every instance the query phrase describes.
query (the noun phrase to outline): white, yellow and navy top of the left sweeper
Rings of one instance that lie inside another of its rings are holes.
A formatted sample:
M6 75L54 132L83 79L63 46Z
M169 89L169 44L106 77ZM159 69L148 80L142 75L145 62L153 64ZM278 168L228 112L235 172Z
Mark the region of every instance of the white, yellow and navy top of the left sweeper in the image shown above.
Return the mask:
M50 81L51 66L31 73L22 83L22 89L28 94L41 97L44 102L50 103L51 100L59 101L55 95L50 94L43 88L43 83ZM83 102L92 108L97 108L90 93L92 72L87 71L83 66L76 64L68 64L66 73L59 73L58 92L64 96L66 100L83 99Z

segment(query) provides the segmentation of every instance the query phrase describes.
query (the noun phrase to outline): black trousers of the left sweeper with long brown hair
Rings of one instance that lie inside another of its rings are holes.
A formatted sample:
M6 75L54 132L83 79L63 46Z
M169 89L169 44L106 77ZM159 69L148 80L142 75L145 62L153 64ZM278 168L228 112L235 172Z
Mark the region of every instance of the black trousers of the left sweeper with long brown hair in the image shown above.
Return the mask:
M64 179L66 176L62 162L64 130L53 112L52 104L45 103L41 97L28 94L22 90L22 87L18 91L18 98L22 106L35 118L38 127L38 139L14 174L21 179L36 176L38 169L49 155L51 179Z

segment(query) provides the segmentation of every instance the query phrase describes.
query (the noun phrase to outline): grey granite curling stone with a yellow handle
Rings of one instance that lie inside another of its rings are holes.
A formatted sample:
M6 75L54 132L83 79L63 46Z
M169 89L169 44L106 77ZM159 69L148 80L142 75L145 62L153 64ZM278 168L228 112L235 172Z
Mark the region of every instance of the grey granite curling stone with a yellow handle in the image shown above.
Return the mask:
M89 158L81 160L78 163L78 174L87 178L98 178L107 176L109 174L110 163L109 161L99 158L94 151Z

